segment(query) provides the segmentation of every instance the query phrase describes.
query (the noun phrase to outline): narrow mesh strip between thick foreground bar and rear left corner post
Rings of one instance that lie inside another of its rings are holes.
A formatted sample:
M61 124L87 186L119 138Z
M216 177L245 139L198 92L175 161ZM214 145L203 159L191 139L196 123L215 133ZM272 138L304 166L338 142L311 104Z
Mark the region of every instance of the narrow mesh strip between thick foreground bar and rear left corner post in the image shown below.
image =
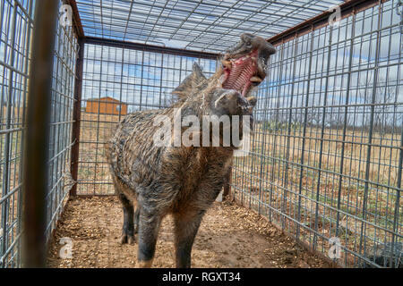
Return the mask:
M59 15L61 16L61 14ZM56 227L69 189L73 186L70 151L73 147L73 104L78 43L73 26L56 24L54 71L49 135L49 186L47 192L47 238Z

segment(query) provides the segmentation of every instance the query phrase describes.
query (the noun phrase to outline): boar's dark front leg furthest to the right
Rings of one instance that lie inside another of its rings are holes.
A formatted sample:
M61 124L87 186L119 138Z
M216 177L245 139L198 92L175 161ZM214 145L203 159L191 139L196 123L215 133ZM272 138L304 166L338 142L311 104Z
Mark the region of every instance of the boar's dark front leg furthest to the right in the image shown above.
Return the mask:
M205 211L174 214L176 268L190 268L194 238Z

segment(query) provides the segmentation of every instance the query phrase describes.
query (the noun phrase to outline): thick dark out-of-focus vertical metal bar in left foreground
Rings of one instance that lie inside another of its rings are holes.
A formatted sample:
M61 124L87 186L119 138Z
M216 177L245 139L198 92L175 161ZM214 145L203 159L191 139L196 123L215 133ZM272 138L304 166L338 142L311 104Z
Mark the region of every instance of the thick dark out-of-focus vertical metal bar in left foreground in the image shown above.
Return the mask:
M25 267L44 267L46 259L46 193L51 76L58 3L42 0L36 3L30 95L28 97L28 128L24 167L24 263Z

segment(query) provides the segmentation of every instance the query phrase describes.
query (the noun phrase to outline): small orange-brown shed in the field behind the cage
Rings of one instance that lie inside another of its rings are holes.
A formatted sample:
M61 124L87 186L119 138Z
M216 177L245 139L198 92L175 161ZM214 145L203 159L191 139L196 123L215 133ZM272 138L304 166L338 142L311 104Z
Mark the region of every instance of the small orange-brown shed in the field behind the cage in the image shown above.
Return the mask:
M127 105L112 97L90 98L85 112L89 114L126 115Z

